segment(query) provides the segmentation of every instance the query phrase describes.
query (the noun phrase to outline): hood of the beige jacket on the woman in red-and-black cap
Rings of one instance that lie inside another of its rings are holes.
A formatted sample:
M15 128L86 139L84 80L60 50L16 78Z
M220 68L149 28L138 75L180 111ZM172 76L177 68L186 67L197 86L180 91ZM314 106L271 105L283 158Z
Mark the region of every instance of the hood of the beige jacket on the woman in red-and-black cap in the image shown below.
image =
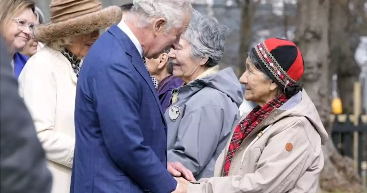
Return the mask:
M286 103L284 103L279 110L283 110L279 116L275 117L276 120L286 116L303 116L306 117L319 132L321 137L321 143L325 145L328 139L328 134L321 122L319 113L316 110L315 105L308 97L305 90L299 91L293 97L291 97Z

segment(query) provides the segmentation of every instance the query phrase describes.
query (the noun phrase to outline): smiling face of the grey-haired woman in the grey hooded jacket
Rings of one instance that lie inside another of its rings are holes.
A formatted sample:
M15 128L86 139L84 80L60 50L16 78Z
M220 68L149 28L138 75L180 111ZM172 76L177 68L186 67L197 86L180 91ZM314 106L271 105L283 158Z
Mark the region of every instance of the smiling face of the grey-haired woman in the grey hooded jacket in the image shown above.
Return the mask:
M203 69L201 61L193 59L190 55L191 44L185 39L180 39L177 49L171 49L168 57L173 64L173 76L180 77L183 80L189 80L191 77Z

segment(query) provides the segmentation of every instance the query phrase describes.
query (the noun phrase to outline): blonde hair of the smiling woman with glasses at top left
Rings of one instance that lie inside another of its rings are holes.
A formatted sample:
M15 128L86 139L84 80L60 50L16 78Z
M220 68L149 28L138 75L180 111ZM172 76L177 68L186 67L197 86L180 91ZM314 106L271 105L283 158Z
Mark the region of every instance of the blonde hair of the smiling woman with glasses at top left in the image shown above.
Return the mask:
M26 8L34 12L34 2L32 0L0 0L0 34L7 29L11 19Z

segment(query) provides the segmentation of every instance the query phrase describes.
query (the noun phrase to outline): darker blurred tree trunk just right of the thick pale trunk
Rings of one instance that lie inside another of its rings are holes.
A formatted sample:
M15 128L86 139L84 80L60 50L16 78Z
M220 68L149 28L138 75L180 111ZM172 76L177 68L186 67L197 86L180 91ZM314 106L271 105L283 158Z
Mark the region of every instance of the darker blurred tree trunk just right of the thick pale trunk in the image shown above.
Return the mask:
M331 1L330 7L331 69L338 76L338 91L344 114L353 114L353 84L359 80L360 74L360 68L354 58L360 35L354 30L358 24L355 16L349 11L349 3L350 0Z

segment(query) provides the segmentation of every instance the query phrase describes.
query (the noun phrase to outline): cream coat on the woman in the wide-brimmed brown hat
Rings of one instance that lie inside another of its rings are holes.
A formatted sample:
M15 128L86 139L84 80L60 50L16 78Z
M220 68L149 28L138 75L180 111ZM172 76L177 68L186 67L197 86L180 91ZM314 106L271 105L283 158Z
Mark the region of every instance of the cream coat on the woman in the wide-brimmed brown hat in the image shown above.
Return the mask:
M28 60L18 81L19 94L46 152L53 176L51 193L69 193L75 146L76 74L61 52L43 47Z

